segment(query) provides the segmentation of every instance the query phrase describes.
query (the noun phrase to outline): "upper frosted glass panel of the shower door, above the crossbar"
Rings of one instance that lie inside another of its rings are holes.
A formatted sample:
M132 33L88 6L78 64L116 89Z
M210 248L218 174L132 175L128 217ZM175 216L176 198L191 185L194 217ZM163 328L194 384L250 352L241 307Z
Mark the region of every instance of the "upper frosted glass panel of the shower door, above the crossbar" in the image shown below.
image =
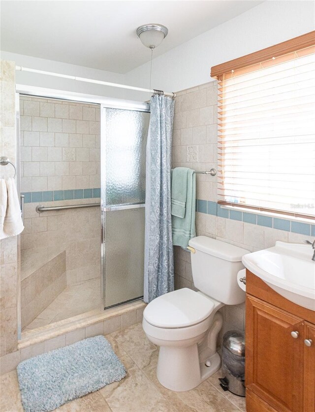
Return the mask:
M145 201L146 141L150 113L104 109L106 206Z

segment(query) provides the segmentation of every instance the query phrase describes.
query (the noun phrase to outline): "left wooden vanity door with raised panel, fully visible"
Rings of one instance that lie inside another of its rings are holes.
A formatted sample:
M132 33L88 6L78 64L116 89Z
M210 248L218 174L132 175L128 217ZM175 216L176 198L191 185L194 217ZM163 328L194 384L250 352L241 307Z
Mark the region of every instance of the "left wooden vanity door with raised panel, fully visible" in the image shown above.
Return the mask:
M302 319L249 296L246 305L246 387L278 412L302 412Z

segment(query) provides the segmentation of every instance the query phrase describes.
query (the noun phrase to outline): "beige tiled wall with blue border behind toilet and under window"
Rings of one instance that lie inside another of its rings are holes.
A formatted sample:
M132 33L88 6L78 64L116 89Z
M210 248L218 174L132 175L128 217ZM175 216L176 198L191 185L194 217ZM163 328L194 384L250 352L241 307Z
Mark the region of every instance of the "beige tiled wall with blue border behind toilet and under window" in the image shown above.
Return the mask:
M217 130L217 82L178 92L172 167L189 167L196 171L218 169ZM196 174L196 198L197 235L217 238L251 252L274 246L276 240L303 242L305 239L313 240L311 235L315 236L314 224L220 207L217 205L217 177ZM184 287L194 289L190 253L176 246L175 288ZM224 306L221 311L221 333L235 328L244 329L244 304Z

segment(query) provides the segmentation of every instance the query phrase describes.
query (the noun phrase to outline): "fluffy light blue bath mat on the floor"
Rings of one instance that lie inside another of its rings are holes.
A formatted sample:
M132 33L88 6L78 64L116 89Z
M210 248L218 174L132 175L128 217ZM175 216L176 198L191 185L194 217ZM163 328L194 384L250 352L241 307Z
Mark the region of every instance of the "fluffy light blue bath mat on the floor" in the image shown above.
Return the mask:
M26 412L53 411L126 376L101 335L24 360L17 373Z

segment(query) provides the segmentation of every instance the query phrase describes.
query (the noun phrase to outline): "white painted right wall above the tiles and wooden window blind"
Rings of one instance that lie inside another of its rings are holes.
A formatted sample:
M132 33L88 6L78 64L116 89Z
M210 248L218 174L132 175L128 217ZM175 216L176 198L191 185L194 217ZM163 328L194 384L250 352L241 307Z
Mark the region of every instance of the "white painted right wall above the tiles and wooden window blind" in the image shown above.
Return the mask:
M312 30L314 1L265 1L154 59L153 88L178 91L207 83L211 66ZM149 73L150 62L127 73L126 83L147 87Z

